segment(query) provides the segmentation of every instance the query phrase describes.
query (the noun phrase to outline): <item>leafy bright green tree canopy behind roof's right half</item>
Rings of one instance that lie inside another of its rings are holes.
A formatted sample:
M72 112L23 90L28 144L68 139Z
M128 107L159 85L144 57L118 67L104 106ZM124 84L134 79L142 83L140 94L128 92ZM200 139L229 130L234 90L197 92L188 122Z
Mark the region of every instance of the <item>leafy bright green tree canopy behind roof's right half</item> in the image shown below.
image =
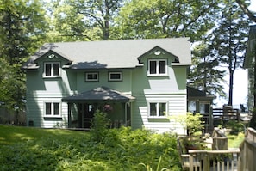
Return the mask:
M190 37L191 41L214 26L218 1L131 0L116 19L122 39Z

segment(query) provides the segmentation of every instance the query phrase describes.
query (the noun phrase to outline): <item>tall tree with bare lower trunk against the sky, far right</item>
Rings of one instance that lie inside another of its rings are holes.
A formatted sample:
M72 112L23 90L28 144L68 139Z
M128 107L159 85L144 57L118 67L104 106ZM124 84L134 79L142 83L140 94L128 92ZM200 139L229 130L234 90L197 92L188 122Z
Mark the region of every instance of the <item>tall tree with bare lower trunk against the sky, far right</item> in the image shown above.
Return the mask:
M232 106L234 71L240 68L243 62L248 20L237 3L232 0L223 1L219 15L222 17L216 21L216 27L209 34L208 40L212 56L217 57L222 66L228 68L228 105Z

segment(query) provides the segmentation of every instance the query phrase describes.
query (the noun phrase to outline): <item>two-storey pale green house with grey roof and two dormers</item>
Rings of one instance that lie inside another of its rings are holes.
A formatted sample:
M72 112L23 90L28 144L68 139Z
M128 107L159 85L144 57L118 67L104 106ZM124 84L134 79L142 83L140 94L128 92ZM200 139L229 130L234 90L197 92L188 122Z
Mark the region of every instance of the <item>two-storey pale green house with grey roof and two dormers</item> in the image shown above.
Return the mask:
M89 129L93 113L112 127L186 133L188 38L48 43L24 65L27 123Z

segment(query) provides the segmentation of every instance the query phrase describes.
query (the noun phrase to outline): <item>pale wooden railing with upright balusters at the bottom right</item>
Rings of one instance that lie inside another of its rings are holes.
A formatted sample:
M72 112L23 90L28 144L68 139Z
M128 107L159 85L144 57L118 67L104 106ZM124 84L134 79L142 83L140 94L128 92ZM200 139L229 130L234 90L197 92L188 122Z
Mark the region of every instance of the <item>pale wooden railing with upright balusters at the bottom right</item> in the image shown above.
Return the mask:
M189 150L190 171L239 170L240 150Z

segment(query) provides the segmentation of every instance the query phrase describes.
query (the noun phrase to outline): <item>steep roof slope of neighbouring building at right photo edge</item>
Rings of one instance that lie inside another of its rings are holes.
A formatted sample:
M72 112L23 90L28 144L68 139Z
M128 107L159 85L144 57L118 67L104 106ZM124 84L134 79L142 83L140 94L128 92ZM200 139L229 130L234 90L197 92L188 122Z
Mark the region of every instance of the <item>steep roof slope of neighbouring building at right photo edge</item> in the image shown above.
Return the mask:
M255 54L256 54L256 25L253 25L253 26L250 26L250 30L248 34L246 57L243 64L244 68L252 67L253 56L255 56Z

